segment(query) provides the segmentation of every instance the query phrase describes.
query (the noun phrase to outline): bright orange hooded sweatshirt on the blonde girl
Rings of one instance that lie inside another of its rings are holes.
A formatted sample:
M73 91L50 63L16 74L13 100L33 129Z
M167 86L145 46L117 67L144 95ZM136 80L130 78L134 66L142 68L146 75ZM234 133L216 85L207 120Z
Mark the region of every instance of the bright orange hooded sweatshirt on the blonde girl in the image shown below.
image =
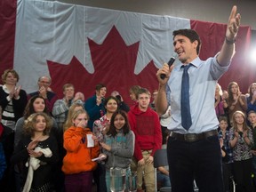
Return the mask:
M92 162L92 158L99 156L100 147L88 148L87 134L92 134L89 128L74 126L64 132L64 148L67 154L63 158L62 171L65 174L88 172L96 168L97 163Z

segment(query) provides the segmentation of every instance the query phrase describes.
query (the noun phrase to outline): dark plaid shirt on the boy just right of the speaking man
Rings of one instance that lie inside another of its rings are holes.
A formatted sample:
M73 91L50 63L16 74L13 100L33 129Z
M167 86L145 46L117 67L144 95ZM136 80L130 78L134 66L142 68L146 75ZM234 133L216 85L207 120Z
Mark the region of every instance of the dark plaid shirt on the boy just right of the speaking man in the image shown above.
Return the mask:
M229 138L230 138L229 130L226 130L224 137L223 137L222 131L220 130L219 137L223 139L223 147L226 153L226 156L223 157L222 160L226 164L231 164L234 162L234 159L233 159L233 150L229 146Z

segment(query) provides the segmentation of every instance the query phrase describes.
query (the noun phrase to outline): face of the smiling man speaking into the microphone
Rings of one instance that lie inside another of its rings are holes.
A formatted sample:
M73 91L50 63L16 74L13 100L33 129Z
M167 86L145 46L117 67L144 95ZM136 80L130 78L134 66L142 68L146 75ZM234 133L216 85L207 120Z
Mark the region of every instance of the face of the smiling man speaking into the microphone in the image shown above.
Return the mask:
M174 52L178 54L179 60L184 64L188 64L196 59L197 44L197 41L191 43L187 36L177 35L173 39Z

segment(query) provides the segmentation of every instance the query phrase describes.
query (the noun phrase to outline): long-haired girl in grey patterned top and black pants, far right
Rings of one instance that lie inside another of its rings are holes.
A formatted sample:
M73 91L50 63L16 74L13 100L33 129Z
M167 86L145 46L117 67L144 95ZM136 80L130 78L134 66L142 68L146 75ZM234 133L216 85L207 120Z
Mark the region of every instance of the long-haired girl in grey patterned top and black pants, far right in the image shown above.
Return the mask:
M236 111L233 115L233 127L230 129L229 143L233 148L234 176L236 191L252 191L252 130L246 124L246 118L242 111Z

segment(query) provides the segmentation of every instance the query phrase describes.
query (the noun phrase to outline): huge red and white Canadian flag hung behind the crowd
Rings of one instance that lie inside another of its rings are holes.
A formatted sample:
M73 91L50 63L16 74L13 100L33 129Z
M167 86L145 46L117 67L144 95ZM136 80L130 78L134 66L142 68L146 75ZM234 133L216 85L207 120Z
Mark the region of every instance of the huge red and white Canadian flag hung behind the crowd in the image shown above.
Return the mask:
M173 55L173 30L196 29L202 40L200 58L205 60L220 51L227 28L226 24L56 1L4 0L0 9L1 74L14 68L27 92L37 89L39 76L51 76L52 90L59 97L66 83L74 84L85 98L103 83L109 94L117 90L129 102L132 85L157 89L156 70ZM246 92L252 83L255 69L246 60L250 40L251 28L241 27L235 58L220 79L223 89L236 81Z

